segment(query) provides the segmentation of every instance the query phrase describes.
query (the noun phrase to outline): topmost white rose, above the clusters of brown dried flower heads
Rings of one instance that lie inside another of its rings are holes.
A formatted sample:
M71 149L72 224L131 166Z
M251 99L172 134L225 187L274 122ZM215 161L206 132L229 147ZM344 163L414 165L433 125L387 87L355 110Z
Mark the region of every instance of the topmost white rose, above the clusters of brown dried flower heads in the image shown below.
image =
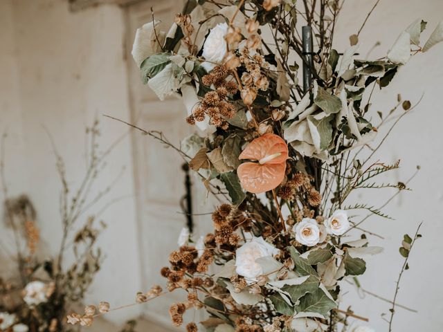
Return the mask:
M217 26L210 30L208 37L206 38L205 44L203 46L203 57L209 62L204 62L201 64L206 71L212 71L216 64L221 63L226 55L226 40L224 37L228 32L228 24L219 23Z

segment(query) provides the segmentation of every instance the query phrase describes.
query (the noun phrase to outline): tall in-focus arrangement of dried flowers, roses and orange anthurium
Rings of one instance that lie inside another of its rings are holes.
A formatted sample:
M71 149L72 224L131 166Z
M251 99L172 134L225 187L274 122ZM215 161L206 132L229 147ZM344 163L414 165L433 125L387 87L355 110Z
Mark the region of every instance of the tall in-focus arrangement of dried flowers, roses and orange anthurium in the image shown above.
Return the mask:
M142 303L184 289L187 299L170 306L174 326L185 324L186 311L203 308L208 319L200 324L210 332L372 331L358 323L364 313L340 308L341 284L359 286L365 257L381 251L369 244L377 234L361 224L374 214L390 216L384 205L352 203L350 195L408 189L408 181L377 182L399 162L372 157L415 105L398 95L390 111L374 113L370 101L411 55L443 40L443 22L424 46L426 22L417 19L385 57L361 59L367 19L349 48L333 47L343 2L188 1L168 32L155 19L137 30L132 55L143 82L161 100L181 98L186 122L200 134L176 147L163 133L129 125L174 147L219 200L213 232L199 239L181 232L161 269L167 291L154 286L136 296ZM369 214L359 216L364 210ZM418 230L405 235L399 250L405 261L389 331L419 237ZM84 317L95 316L73 313L69 321L81 324ZM201 328L189 322L186 329Z

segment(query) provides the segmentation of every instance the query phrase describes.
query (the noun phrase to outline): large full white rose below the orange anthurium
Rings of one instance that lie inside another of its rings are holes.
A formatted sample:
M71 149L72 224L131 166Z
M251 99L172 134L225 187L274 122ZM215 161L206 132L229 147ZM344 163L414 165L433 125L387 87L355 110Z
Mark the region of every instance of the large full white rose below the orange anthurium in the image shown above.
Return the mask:
M264 241L262 237L253 237L235 252L235 271L246 280L256 282L263 274L263 269L255 260L277 255L280 250Z

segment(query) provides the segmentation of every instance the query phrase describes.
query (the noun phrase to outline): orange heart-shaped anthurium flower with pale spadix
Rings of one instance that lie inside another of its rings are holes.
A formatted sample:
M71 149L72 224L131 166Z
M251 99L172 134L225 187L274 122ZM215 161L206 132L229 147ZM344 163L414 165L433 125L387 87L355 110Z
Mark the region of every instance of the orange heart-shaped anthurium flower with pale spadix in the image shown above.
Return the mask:
M258 161L242 163L237 168L237 175L244 190L259 194L273 190L282 183L288 146L275 133L265 133L249 143L238 158Z

